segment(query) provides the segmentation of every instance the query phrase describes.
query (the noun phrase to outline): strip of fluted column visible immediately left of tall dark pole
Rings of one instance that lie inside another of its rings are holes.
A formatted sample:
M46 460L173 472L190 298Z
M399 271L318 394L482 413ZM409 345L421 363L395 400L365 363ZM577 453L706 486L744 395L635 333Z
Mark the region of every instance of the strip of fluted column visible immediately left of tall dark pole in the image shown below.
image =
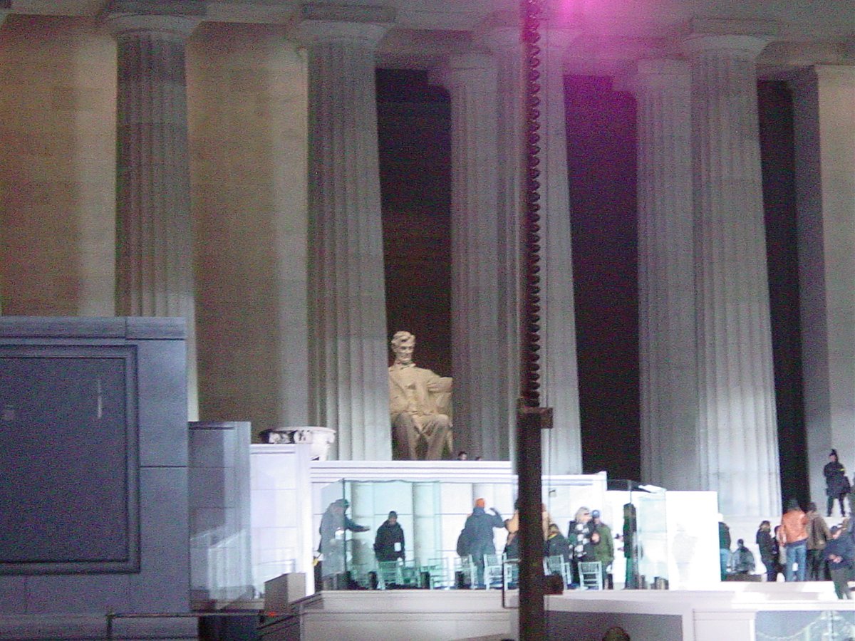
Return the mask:
M498 16L481 38L498 68L498 458L515 460L520 395L520 238L523 191L523 47L519 16Z

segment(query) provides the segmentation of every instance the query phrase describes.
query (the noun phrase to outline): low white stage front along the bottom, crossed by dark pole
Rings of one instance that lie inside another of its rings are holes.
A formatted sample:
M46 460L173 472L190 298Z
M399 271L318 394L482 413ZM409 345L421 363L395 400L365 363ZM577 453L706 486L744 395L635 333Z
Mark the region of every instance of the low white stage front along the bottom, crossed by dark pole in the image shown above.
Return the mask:
M320 592L262 626L266 641L377 638L407 641L516 639L516 593ZM830 582L722 583L706 591L568 591L546 597L548 639L598 641L622 626L633 641L848 639L855 605Z

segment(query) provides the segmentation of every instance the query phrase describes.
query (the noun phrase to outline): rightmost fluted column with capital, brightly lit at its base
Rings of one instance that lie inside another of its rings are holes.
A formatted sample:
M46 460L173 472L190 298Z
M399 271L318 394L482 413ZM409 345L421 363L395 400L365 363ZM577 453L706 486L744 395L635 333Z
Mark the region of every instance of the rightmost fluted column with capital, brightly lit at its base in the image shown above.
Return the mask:
M725 515L781 509L753 36L688 38L699 462Z

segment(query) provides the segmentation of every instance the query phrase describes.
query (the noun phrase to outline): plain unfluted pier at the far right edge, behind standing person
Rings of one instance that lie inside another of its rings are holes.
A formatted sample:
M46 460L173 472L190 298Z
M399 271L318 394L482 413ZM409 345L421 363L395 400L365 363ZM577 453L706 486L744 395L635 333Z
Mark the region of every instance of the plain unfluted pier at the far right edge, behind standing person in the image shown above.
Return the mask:
M855 68L790 79L799 215L799 291L811 499L836 448L855 466Z

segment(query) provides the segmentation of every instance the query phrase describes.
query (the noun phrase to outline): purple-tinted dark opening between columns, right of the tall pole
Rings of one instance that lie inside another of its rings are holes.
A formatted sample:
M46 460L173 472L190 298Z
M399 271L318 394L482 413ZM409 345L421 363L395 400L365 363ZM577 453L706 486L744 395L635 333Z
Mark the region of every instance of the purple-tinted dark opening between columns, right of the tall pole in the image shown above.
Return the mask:
M565 85L582 469L640 479L635 102L608 78Z

